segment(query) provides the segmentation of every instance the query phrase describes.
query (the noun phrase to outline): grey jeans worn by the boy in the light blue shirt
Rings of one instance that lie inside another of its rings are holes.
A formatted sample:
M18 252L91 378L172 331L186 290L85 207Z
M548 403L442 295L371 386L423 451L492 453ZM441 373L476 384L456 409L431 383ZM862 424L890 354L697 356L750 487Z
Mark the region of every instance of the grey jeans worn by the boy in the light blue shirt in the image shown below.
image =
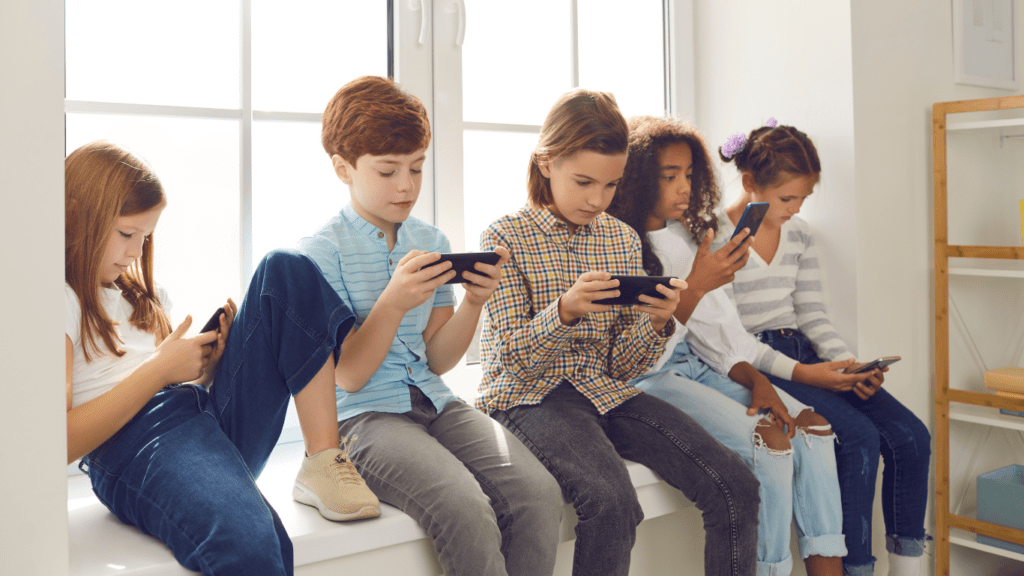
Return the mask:
M433 538L447 576L543 576L555 566L562 492L525 446L459 400L440 414L410 386L413 409L338 424L381 500Z

